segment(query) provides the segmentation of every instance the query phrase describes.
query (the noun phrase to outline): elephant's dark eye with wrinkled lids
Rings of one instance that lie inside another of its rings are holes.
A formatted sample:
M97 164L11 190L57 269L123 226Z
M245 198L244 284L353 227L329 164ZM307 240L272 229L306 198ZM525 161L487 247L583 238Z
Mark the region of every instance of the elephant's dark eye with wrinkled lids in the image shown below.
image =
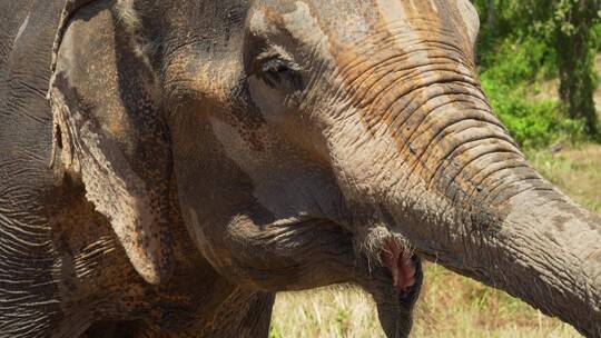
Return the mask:
M260 77L270 88L289 87L298 90L303 87L300 67L279 56L264 59L260 62Z

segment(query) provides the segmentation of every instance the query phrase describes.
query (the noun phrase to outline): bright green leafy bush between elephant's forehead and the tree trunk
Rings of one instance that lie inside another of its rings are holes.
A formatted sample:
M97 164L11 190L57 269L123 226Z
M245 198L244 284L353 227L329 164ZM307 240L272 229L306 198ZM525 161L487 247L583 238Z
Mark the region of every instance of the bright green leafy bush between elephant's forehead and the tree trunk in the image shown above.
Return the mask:
M479 41L479 72L493 110L513 138L524 148L542 148L560 141L585 138L583 121L565 118L556 92L553 99L535 98L545 81L558 76L555 49L544 27L528 26L518 17L519 7L506 7L494 33L483 20ZM515 12L511 12L514 10ZM485 14L481 18L485 19ZM593 29L601 40L599 24ZM601 43L597 44L601 48ZM546 86L546 88L553 86Z

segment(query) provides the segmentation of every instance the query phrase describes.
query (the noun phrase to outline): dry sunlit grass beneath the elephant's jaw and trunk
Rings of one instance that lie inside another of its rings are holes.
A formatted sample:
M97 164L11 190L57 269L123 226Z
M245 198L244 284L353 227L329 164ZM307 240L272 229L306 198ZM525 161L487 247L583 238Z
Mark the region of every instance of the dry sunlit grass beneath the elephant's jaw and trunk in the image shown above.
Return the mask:
M412 337L580 337L509 295L435 265L425 269ZM370 295L331 287L278 295L272 338L385 337Z

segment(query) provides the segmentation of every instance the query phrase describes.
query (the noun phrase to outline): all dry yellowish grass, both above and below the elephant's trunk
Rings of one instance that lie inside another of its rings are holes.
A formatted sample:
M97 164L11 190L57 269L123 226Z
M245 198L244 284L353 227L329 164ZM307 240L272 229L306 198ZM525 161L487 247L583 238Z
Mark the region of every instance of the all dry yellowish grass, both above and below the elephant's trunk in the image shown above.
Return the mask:
M601 146L530 156L551 181L601 211ZM371 297L337 286L278 295L272 338L384 337ZM413 337L580 337L509 295L428 265Z

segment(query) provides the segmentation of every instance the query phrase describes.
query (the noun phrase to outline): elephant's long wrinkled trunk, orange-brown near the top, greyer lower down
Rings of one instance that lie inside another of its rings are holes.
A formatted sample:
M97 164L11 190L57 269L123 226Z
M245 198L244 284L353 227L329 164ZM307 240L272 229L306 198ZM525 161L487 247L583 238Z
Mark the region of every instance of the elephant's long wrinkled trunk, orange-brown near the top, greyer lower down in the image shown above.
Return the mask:
M346 80L351 105L339 105L348 113L329 152L357 210L352 227L377 248L372 239L391 235L374 229L385 225L422 256L601 337L601 220L532 169L471 61L435 52L436 62L366 66Z

